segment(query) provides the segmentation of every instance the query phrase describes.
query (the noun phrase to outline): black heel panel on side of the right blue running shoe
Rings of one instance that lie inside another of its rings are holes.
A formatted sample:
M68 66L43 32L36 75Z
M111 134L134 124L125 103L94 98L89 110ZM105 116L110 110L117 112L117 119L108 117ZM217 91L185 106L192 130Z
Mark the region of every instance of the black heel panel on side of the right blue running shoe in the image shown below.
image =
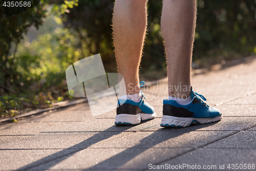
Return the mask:
M180 117L180 118L192 118L194 115L194 112L188 111L183 107L175 107L173 105L164 104L163 115Z

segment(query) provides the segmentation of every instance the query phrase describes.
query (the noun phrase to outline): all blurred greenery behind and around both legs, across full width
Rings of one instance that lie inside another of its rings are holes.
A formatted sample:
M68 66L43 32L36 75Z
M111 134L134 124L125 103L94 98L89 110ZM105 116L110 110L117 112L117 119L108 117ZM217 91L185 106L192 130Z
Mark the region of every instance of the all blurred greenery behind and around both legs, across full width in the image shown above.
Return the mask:
M113 0L41 0L36 7L10 17L1 5L1 118L73 99L65 70L87 56L100 53L106 72L117 72L113 5ZM166 77L161 6L161 1L148 1L140 70L144 80ZM198 0L193 68L256 54L255 20L254 0Z

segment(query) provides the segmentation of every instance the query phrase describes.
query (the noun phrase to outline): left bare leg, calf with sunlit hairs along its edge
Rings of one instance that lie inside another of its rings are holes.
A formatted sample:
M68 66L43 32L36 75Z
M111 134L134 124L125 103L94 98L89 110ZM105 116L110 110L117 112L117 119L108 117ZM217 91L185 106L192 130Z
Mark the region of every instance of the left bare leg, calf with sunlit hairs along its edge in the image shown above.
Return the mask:
M146 31L147 0L115 2L113 35L118 72L127 94L139 93L139 65Z

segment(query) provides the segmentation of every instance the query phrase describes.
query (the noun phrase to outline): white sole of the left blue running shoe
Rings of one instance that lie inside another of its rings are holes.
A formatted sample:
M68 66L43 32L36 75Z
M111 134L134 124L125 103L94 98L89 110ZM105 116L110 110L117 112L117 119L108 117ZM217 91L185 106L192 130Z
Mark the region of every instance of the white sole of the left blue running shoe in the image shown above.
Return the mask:
M119 114L116 116L116 125L138 125L141 121L152 120L156 118L156 113L138 113L137 115Z

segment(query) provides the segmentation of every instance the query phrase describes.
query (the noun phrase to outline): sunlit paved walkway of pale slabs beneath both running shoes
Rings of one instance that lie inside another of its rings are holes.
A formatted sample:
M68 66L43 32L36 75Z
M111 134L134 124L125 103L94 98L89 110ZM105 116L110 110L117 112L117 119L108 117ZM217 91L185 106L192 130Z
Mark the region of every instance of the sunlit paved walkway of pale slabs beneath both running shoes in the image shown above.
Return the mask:
M162 98L166 85L144 90L157 118L137 126L115 126L115 111L92 117L87 103L0 125L0 170L152 170L161 165L232 170L232 164L239 170L245 164L253 168L255 60L193 76L194 90L222 111L217 123L160 127L162 100L156 99Z

